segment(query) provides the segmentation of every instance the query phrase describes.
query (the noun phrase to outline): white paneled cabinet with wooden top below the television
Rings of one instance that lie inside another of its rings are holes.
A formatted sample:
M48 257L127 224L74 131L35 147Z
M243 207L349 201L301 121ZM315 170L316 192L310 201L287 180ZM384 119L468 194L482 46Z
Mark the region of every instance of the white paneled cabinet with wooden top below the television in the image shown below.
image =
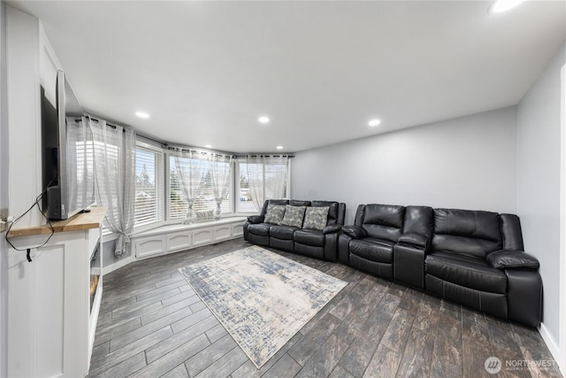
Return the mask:
M104 209L47 227L13 229L8 249L8 376L88 374L103 294Z

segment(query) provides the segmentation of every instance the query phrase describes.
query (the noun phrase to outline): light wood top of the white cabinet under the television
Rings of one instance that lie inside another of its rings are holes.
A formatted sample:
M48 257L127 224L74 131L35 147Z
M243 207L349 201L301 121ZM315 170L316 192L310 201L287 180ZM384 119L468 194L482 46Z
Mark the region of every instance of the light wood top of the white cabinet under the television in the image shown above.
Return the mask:
M73 215L73 217L68 220L57 220L51 222L51 225L55 232L80 231L89 228L99 228L103 223L104 214L106 214L105 207L91 207L90 212L81 212ZM31 228L12 228L7 236L18 237L50 233L51 228L49 225L45 224Z

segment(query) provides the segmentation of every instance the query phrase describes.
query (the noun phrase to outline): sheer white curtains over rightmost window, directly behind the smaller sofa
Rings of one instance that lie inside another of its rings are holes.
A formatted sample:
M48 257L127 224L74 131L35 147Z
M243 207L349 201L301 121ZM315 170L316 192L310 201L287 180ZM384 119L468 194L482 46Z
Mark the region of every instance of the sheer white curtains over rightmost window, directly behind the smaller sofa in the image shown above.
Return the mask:
M266 199L286 197L289 158L286 156L247 156L249 194L259 212Z

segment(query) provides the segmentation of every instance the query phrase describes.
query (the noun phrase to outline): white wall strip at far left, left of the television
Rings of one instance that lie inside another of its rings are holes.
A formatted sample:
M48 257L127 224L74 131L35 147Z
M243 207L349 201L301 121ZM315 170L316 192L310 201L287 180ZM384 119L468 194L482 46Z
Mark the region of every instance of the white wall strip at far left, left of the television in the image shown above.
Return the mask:
M21 215L42 191L39 21L6 7L10 214ZM16 148L18 146L18 148ZM22 169L22 167L25 167ZM39 211L18 226L40 224Z

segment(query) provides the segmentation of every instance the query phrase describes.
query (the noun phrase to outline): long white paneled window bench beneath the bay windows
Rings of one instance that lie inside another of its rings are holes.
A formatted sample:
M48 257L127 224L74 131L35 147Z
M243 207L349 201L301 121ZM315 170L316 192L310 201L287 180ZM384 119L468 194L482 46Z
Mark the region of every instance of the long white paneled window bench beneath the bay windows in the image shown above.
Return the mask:
M165 225L136 233L130 236L132 256L149 258L235 239L243 235L244 220L246 217L230 217L190 225Z

